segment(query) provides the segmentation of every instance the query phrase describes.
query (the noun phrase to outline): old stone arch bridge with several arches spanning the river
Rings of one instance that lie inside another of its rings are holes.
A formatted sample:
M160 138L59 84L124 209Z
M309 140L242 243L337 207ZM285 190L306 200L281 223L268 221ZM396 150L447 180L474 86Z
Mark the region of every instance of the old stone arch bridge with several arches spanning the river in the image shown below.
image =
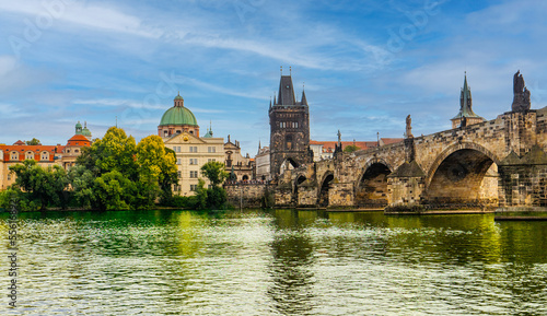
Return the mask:
M547 107L286 171L276 204L384 209L547 207Z

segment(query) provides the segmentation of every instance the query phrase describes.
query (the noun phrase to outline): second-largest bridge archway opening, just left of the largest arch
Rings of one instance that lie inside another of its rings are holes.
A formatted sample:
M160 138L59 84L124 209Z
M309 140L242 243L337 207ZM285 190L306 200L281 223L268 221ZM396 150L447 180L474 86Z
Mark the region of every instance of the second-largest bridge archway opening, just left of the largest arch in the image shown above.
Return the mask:
M387 206L387 176L392 172L383 163L373 163L359 179L356 204L364 208L385 208Z

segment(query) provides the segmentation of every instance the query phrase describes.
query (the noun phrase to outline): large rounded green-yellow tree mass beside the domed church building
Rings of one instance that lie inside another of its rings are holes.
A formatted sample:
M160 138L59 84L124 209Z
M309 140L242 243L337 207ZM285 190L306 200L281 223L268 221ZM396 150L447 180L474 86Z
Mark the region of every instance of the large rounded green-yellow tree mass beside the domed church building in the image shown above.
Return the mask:
M84 148L77 165L83 169L71 177L74 197L101 210L149 208L159 197L171 197L177 182L175 153L160 137L149 136L136 144L116 127Z

